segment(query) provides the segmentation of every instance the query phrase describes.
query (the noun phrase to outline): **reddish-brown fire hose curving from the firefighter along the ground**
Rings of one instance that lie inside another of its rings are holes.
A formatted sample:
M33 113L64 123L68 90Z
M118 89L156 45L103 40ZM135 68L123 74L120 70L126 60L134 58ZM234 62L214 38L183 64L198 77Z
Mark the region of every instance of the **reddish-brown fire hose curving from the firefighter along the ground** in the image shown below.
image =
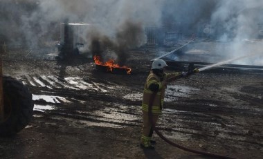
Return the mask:
M176 78L168 80L167 82L172 82L175 79L179 79L179 78L180 77L176 77ZM157 92L154 92L151 95L150 99L149 99L148 115L149 115L149 122L152 124L152 129L154 129L156 134L161 139L163 139L165 142L167 142L168 144L171 144L174 147L178 147L179 149L183 149L185 151L189 151L189 152L192 152L192 153L197 153L197 154L200 154L200 155L203 155L203 156L210 156L210 157L214 157L214 158L235 159L235 158L231 158L231 157L228 157L228 156L221 156L221 155L217 155L217 154L214 154L214 153L208 153L208 152L204 152L204 151L197 151L195 149L189 149L187 147L183 147L183 146L181 146L179 144L176 144L176 143L172 142L171 140L168 140L167 138L165 138L165 136L160 131L158 131L157 127L155 127L155 124L154 124L154 122L152 120L152 105L153 105L154 98L155 98L156 94L157 94Z

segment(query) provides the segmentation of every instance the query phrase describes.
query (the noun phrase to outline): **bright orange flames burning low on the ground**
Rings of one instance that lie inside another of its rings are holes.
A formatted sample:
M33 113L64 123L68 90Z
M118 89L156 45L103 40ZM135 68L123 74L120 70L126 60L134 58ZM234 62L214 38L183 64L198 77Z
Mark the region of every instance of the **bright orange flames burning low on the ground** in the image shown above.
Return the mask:
M93 59L94 59L94 62L96 65L107 66L108 67L107 71L112 72L112 68L122 68L122 69L125 69L127 71L127 74L131 74L131 68L129 68L127 66L120 66L120 65L116 64L114 59L109 59L109 61L107 61L107 62L101 62L100 56L97 56L97 55L94 55Z

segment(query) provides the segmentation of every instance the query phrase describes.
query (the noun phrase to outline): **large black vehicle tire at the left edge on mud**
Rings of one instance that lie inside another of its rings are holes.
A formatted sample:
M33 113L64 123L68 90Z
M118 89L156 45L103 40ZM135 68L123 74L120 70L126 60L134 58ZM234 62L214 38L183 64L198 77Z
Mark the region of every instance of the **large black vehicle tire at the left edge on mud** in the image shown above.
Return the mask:
M32 94L22 82L3 76L3 107L0 136L15 135L26 127L33 116Z

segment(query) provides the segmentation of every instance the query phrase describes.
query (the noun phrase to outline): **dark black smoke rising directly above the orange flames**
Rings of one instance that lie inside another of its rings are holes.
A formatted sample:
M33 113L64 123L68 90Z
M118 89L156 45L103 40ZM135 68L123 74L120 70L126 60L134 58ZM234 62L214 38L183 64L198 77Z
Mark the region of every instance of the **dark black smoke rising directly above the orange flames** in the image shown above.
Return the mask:
M91 33L92 32L92 33ZM91 41L90 50L94 55L99 55L102 61L116 59L123 66L129 56L129 48L135 48L145 44L143 26L140 23L125 21L120 25L114 37L101 35L95 28L88 33Z

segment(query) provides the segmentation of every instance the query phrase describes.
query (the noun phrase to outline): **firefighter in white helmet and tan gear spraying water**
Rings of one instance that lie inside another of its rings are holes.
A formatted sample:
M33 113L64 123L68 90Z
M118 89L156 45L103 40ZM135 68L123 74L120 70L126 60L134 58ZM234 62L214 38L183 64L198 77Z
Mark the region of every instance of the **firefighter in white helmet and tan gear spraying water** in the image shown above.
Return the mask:
M142 136L140 138L140 147L145 149L154 149L155 140L152 140L152 134L154 133L152 124L156 124L161 110L163 107L163 100L165 97L165 88L169 79L187 77L192 73L198 73L199 70L195 68L188 72L178 73L164 73L166 62L163 59L156 59L152 62L151 71L146 79L144 90L143 90L143 127ZM152 94L156 93L154 98ZM152 102L150 101L152 100ZM152 103L152 122L149 121L148 107Z

